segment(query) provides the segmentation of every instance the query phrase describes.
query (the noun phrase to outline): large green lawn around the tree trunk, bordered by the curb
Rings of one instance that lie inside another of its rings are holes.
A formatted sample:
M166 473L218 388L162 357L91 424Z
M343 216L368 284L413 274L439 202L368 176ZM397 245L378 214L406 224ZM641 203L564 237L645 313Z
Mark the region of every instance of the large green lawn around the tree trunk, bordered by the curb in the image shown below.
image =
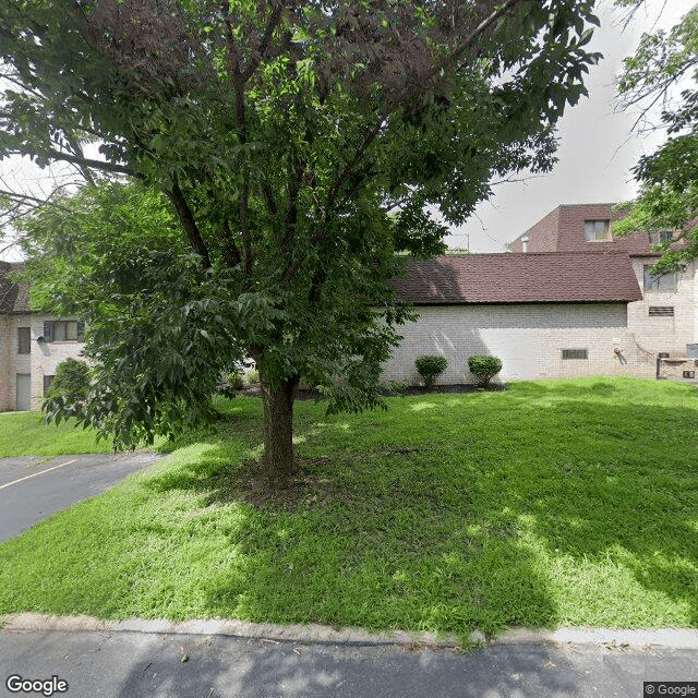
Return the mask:
M698 627L698 392L516 383L297 404L305 479L244 477L261 404L0 545L0 613L237 617L485 634Z

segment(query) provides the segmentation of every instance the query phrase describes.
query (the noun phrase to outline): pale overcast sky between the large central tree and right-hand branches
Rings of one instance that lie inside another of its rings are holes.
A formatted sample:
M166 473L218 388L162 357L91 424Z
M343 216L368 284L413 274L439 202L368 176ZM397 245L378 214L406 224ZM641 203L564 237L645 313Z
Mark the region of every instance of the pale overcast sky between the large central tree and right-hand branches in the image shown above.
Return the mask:
M568 109L559 121L557 165L542 178L496 186L494 197L478 207L477 216L446 239L448 245L468 248L469 243L471 252L504 252L507 242L559 204L633 198L636 186L630 168L661 139L633 136L637 112L616 110L614 81L642 31L673 26L694 4L695 0L646 0L645 9L622 31L622 15L613 9L612 0L600 0L597 15L601 27L590 48L604 58L587 76L589 97Z

